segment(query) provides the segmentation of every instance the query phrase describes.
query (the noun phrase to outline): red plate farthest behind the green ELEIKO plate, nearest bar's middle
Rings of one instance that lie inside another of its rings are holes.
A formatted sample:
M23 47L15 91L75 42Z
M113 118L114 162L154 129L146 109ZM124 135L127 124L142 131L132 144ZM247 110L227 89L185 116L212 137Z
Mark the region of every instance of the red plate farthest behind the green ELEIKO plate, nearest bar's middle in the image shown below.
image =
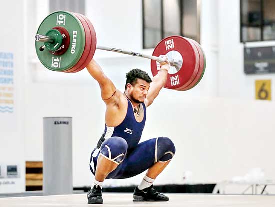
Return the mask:
M86 16L84 16L82 14L78 14L78 15L80 15L88 24L89 31L91 34L91 48L90 48L89 55L88 55L86 61L82 64L82 66L79 67L78 70L73 71L73 72L78 72L78 71L82 70L83 68L85 68L87 66L87 64L92 60L93 55L95 53L95 49L96 49L96 33L95 33L93 25L91 24L91 22L89 21L89 19Z

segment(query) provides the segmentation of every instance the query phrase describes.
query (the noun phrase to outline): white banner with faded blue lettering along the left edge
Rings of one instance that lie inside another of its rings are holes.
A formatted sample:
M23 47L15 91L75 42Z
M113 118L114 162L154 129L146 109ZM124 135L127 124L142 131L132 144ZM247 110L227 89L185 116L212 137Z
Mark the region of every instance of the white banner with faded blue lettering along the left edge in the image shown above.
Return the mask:
M13 7L15 4L16 8ZM12 0L1 5L0 193L25 190L23 123L26 19L19 18L23 17L24 12L24 1ZM17 170L12 167L14 171L10 171L8 166L16 166Z

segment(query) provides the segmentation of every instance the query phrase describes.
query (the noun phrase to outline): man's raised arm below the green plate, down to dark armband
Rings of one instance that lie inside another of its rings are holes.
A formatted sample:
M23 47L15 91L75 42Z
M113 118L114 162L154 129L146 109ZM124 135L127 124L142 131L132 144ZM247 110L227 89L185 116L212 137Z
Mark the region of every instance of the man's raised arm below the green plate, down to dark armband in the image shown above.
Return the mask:
M105 102L108 102L108 100L112 99L116 92L116 87L113 82L104 74L103 70L95 62L95 60L92 60L87 65L87 69L90 75L99 83L102 99Z

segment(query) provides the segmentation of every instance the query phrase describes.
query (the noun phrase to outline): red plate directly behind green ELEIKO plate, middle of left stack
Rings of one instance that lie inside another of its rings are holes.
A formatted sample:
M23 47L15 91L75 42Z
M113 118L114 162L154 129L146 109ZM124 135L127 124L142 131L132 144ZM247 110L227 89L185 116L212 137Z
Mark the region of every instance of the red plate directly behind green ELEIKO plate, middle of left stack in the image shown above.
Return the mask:
M84 30L85 30L85 37L86 37L86 44L85 44L85 48L84 48L84 51L82 53L82 56L80 58L80 60L70 69L68 70L65 70L63 72L66 72L66 73L75 73L75 72L78 72L80 71L80 66L82 66L82 64L86 61L88 55L89 55L89 51L90 51L90 48L91 48L91 34L90 34L90 31L89 31L89 27L88 27L88 24L86 23L86 21L80 16L78 15L77 13L72 13L72 15L76 16L80 22L82 23L83 27L84 27ZM83 68L82 68L83 69ZM81 69L81 70L82 70Z

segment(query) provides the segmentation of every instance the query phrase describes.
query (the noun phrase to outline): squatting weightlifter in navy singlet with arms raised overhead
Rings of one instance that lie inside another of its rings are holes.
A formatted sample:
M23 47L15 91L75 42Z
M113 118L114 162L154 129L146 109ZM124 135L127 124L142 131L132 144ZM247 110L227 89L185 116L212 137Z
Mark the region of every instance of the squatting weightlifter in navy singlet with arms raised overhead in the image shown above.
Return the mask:
M151 79L140 70L126 74L124 92L119 91L92 60L87 69L99 83L101 97L106 104L105 130L92 151L90 170L95 175L94 185L88 191L89 204L101 204L105 179L123 179L148 169L133 193L133 201L168 201L166 195L153 188L155 178L169 164L175 146L167 137L156 137L139 143L150 106L166 83L169 62L160 63L159 73Z

